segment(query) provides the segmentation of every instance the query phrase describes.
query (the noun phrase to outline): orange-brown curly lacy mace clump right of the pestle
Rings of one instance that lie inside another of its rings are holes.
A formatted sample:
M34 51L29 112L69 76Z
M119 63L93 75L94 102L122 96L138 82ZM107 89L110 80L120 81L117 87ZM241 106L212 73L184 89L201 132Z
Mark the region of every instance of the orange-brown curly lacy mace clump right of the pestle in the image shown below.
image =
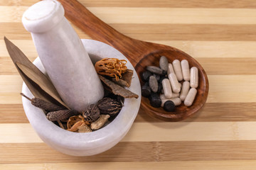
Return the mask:
M126 60L104 58L95 63L95 69L97 74L115 77L115 79L118 81L119 77L122 77L122 74L127 70L125 64L127 64Z

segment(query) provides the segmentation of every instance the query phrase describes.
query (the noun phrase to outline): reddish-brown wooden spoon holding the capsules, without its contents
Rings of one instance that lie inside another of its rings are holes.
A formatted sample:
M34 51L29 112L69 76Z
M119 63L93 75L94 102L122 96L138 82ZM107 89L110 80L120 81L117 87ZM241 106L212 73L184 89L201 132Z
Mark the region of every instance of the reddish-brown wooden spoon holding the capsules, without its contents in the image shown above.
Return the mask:
M208 96L208 78L203 67L190 55L167 45L159 45L151 42L144 42L129 38L110 27L76 0L58 0L65 8L65 17L75 26L82 29L91 38L112 45L129 59L135 67L137 74L141 75L148 65L159 65L159 58L164 55L169 62L175 59L188 60L190 67L197 67L199 73L198 93L191 107L183 104L176 108L175 112L166 112L163 108L150 106L149 99L142 97L142 107L146 113L166 121L178 121L188 118L198 112L206 103ZM140 79L141 80L141 79ZM142 83L142 80L141 80Z

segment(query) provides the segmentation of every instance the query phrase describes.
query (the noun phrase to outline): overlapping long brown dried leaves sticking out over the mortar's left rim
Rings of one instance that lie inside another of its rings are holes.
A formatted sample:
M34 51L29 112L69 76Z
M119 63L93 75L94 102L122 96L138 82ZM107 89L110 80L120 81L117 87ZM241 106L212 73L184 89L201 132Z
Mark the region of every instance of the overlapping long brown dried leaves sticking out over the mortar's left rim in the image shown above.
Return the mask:
M48 79L46 75L43 74L31 61L29 61L26 55L24 55L23 52L18 47L16 47L16 45L14 45L10 40L4 37L4 41L6 43L6 48L9 52L11 60L13 60L16 69L18 69L19 74L21 75L23 81L26 83L28 89L31 91L33 96L35 96L36 98L41 98L42 100L48 101L50 103L60 104L62 106L65 106L65 108L68 108L68 106L66 106L65 103L61 101L60 96L58 95L58 92L56 91L50 79ZM26 75L26 73L18 68L18 65L16 64L17 62L28 67L28 69L31 70L29 72L33 72L33 74L31 73L29 75ZM33 75L33 77L31 77L31 75ZM35 75L37 77L36 81L34 79ZM38 79L41 79L41 81L45 81L44 84L37 84Z

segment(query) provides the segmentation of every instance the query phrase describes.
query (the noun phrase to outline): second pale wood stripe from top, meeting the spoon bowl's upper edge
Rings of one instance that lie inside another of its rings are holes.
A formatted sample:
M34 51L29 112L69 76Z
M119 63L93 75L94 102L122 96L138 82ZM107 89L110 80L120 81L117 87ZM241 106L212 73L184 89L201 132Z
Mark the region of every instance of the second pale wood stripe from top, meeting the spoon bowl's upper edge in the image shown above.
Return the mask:
M1 28L0 28L1 29ZM255 27L256 30L256 27ZM255 32L256 34L256 32ZM171 39L171 37L170 37ZM11 40L24 54L33 61L38 56L33 40ZM195 58L254 58L256 54L256 42L254 41L183 41L183 40L151 40L164 45L176 47ZM6 50L4 40L0 40L0 64L1 67L9 67L4 62L11 62ZM4 61L3 61L4 60ZM232 59L233 60L233 59ZM246 60L246 59L245 59ZM1 69L0 67L0 69Z

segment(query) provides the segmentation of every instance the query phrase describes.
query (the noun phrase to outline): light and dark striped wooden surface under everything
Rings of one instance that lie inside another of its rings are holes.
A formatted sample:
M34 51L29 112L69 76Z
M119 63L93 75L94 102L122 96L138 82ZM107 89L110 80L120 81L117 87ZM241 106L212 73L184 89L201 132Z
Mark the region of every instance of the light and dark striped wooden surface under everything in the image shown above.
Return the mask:
M0 0L0 36L34 60L21 23L34 0ZM121 33L178 47L202 64L210 91L201 113L179 123L142 109L127 136L93 157L44 144L22 108L22 80L0 40L0 169L255 169L255 0L80 0ZM80 38L89 38L75 28Z

